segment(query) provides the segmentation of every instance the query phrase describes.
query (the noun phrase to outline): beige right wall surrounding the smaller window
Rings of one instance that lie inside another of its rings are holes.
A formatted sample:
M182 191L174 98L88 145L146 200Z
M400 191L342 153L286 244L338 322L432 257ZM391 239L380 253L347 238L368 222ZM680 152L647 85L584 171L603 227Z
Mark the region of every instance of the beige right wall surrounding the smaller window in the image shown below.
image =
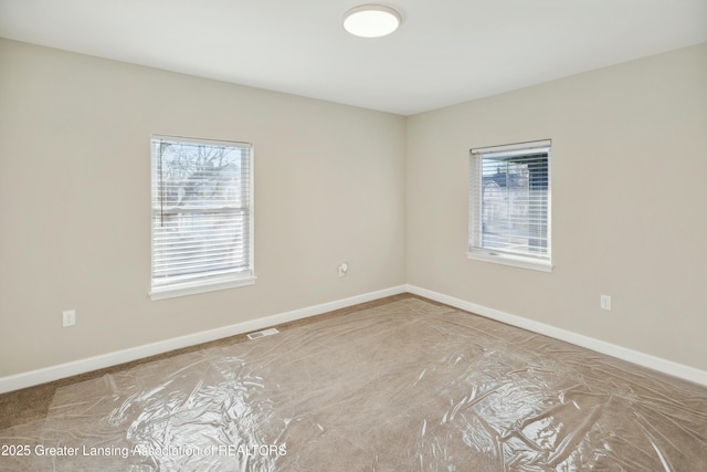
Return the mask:
M555 271L467 260L468 150L545 138ZM706 242L707 44L409 119L410 284L707 369Z

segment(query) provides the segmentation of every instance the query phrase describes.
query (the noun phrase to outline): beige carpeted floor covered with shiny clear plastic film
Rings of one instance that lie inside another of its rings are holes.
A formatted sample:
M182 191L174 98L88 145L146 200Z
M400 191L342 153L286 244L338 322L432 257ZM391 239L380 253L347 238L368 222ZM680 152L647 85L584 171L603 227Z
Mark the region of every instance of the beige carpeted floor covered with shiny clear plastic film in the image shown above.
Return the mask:
M707 471L707 389L411 297L60 388L0 445L12 471Z

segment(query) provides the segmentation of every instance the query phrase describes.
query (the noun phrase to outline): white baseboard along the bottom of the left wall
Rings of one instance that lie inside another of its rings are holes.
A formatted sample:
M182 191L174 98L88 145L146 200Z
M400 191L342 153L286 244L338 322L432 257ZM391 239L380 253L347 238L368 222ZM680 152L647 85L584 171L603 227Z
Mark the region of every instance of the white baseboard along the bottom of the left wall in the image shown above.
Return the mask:
M265 316L262 318L251 319L221 328L209 329L186 336L175 337L171 339L160 340L152 344L146 344L144 346L137 346L42 369L31 370L28 373L1 377L0 394L19 390L25 387L32 387L52 380L59 380L61 378L71 377L78 374L89 373L92 370L113 367L119 364L129 363L131 360L143 359L145 357L154 356L157 354L180 349L182 347L194 346L229 336L234 336L236 334L250 333L263 329L268 326L279 325L309 316L320 315L334 310L346 308L359 303L371 302L373 300L398 295L404 292L405 285L393 286L377 292L369 292L362 295L341 298L319 305L307 306L305 308L293 310L292 312L285 312L276 315Z

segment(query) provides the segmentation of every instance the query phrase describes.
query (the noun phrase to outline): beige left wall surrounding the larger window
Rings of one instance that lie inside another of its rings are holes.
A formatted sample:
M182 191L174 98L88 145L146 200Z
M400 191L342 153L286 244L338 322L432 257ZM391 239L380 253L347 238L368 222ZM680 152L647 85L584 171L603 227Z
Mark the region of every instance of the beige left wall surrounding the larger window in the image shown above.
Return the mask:
M254 286L149 301L152 133L254 143ZM1 40L0 377L403 284L404 150L401 116Z

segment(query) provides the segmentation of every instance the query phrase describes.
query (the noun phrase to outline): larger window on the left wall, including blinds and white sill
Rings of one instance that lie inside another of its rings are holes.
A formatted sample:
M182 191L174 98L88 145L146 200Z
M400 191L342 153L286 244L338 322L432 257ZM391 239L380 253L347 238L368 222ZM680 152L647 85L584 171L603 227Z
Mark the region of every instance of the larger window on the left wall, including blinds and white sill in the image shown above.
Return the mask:
M252 146L152 136L152 300L254 283Z

